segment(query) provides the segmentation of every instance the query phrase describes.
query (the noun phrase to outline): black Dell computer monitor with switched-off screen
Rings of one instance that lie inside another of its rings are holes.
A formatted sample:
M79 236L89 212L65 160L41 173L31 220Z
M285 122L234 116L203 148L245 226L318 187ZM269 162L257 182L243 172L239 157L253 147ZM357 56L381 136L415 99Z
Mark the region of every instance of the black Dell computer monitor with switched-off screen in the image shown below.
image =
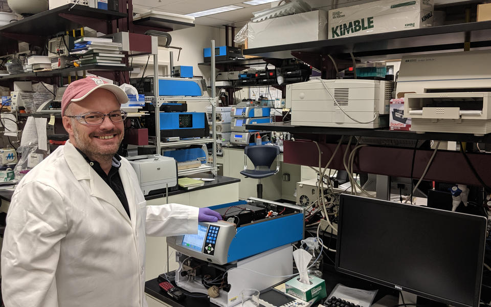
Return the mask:
M486 218L342 194L336 269L455 306L479 306Z

